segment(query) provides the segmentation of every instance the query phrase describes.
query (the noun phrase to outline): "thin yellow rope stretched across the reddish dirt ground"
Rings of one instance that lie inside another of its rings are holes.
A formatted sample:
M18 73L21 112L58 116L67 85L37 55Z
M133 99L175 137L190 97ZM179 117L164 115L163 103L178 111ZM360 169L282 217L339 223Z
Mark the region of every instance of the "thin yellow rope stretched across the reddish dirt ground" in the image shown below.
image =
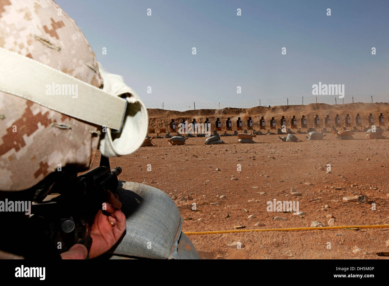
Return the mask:
M260 230L217 230L213 232L184 232L186 235L193 234L216 234L216 233L231 233L231 232L282 232L291 230L334 230L341 228L389 228L389 225L349 225L349 226L320 226L320 227L297 227L297 228L264 228Z

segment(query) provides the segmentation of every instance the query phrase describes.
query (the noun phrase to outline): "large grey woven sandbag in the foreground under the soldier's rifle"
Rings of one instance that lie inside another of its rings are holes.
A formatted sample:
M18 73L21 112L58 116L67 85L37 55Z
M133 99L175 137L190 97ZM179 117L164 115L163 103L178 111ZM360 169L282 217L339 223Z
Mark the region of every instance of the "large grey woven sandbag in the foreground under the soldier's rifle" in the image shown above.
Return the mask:
M200 258L182 233L179 209L166 193L145 184L124 181L119 181L116 193L126 216L126 231L108 251L111 259Z

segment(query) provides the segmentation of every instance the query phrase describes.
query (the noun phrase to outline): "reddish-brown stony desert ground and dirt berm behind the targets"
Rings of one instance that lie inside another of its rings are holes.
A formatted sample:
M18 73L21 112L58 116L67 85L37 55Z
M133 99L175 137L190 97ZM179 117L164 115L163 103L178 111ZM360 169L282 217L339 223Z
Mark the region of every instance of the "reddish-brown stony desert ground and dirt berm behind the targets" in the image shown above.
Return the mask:
M286 115L287 122L291 115L296 115L300 126L302 114L312 119L315 114L323 119L329 114L333 120L336 113L344 124L346 113L353 122L357 112L363 117L371 112L376 121L379 112L387 118L389 104L203 110L201 116L195 112L199 111L149 110L149 125L167 128L171 118L177 119L176 122L180 118L191 121L195 115L199 122L209 117L212 124L216 116L225 122L231 115L234 122L239 114L246 114L253 120L265 116L267 125L269 116L275 116L279 125L280 115ZM258 135L255 144L241 144L236 136L226 136L221 137L225 144L205 145L204 137L196 137L188 138L185 145L170 146L167 139L153 139L157 146L140 147L135 153L111 158L110 162L111 166L123 168L120 180L149 184L167 193L182 218L189 219L184 220L183 232L233 230L238 225L246 229L298 228L309 227L313 221L326 226L389 224L388 139L366 139L365 132L357 132L354 140L334 140L332 133L327 133L324 140L306 140L306 134L294 135L302 141L282 142L279 135ZM99 159L100 153L93 167L98 166ZM147 171L148 164L151 171ZM331 173L326 172L327 164L331 164ZM301 196L291 195L291 188ZM357 195L366 195L368 202L342 200ZM299 211L305 214L268 212L266 202L273 199L298 201ZM200 211L192 211L193 203ZM248 218L251 215L254 218ZM287 220L273 220L275 216ZM335 221L329 221L331 218ZM386 242L389 228L188 237L203 259L380 259L385 257L377 256L377 252L389 251ZM235 246L229 246L234 242ZM241 243L240 249L236 242Z

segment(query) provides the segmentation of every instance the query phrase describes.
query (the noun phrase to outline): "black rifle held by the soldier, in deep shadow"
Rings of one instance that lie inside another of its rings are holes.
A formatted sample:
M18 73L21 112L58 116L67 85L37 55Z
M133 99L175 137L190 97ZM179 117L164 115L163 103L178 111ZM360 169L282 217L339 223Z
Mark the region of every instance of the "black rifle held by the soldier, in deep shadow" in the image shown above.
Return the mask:
M102 156L99 167L54 183L46 197L51 199L32 205L33 216L29 220L33 228L44 232L58 253L76 243L86 246L89 253L93 218L100 209L104 211L107 190L116 191L121 171L121 167L111 171L108 158Z

